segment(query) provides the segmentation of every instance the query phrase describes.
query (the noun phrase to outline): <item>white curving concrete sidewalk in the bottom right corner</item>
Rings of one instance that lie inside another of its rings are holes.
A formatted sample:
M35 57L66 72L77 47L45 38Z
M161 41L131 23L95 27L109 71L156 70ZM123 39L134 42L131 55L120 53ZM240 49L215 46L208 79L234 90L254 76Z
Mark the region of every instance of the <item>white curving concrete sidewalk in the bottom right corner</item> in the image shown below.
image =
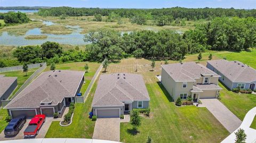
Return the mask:
M247 135L245 142L248 142L248 143L256 142L256 130L250 128L255 115L256 115L256 107L252 108L249 112L247 112L242 124L239 127L245 131L245 134ZM222 141L222 143L235 142L235 139L236 139L235 132L236 131L237 131L237 129L233 133L231 133L226 139L224 139Z

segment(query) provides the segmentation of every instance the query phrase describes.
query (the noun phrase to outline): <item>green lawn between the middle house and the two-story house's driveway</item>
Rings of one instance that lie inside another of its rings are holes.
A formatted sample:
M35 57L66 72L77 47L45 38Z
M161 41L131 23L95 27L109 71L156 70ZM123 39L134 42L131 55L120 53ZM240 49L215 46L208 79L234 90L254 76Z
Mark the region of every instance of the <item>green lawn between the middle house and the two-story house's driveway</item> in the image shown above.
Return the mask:
M229 132L204 107L176 107L162 85L146 85L152 117L142 117L139 133L129 123L121 123L122 142L220 142ZM162 89L161 89L162 88Z

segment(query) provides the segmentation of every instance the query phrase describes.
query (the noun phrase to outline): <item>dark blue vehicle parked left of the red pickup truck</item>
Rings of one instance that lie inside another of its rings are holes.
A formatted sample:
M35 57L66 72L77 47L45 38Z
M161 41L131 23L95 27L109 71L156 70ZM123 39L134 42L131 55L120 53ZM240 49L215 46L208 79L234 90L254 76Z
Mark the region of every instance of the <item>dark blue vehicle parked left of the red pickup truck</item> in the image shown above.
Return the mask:
M20 116L12 119L9 124L4 129L4 135L8 136L15 136L18 134L26 123L26 116Z

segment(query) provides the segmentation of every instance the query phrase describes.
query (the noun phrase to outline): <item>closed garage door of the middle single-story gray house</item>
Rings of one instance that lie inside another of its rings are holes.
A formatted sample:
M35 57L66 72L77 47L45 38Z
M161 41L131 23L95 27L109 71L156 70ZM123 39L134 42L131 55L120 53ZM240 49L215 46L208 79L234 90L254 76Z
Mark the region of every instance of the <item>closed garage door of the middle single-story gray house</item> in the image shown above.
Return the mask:
M97 109L97 117L119 117L120 109Z

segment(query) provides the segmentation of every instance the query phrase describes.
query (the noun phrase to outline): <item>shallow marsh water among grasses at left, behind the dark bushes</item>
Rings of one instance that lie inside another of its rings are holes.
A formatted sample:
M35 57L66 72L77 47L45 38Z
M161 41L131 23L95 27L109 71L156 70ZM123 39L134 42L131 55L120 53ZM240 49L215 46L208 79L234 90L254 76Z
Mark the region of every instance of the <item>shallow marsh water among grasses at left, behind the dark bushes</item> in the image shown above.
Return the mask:
M51 26L55 23L51 21L43 21L46 26ZM13 45L13 46L25 46L25 45L41 45L46 41L55 41L60 44L70 45L85 45L84 35L80 32L82 29L79 26L67 26L73 30L73 33L68 35L54 35L54 34L43 34L40 28L30 29L25 35L17 36L11 35L7 31L4 31L0 35L0 45ZM28 35L47 35L46 39L25 39Z

